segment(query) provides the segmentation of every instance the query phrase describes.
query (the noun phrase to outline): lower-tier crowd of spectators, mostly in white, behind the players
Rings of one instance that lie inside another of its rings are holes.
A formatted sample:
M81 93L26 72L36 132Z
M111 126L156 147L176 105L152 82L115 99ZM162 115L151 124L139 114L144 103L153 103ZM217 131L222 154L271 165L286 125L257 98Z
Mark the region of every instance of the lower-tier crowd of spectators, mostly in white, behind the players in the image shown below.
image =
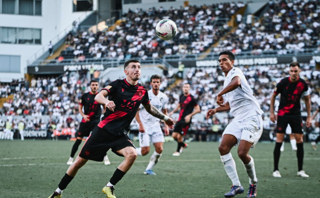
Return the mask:
M288 67L285 64L239 66L247 81L254 91L263 111L269 111L270 93L275 84L283 77L288 76ZM320 100L320 71L314 69L309 63L301 64L300 77L309 83L311 93L311 109L317 108ZM280 72L279 72L280 71ZM175 75L164 77L163 81L172 81ZM170 79L171 78L171 79ZM37 77L27 80L14 80L12 83L1 84L1 95L13 94L13 99L6 101L0 108L1 116L31 115L34 119L25 121L26 127L45 128L48 122L57 124L58 129L66 126L76 128L78 124L78 100L82 93L89 91L88 79L90 75L81 75L79 72L65 73L56 77ZM191 85L190 93L198 99L201 106L202 118L195 119L197 125L210 125L214 121L226 124L231 118L229 115L216 119L205 120L204 115L209 108L216 106L215 97L218 90L223 86L224 76L219 67L192 67L188 69L186 77L178 84L168 89L168 86L161 86L161 90L169 97L168 110L175 108L181 94L181 87L184 82ZM104 87L110 80L100 83ZM140 82L150 88L147 78L141 78ZM165 83L164 83L165 84ZM305 106L302 104L305 111ZM42 115L48 115L50 120L45 123L41 121ZM70 118L72 117L72 121ZM265 115L267 117L267 114ZM69 120L69 121L67 121ZM14 119L12 119L14 122ZM15 120L16 122L18 120ZM42 123L43 122L43 123Z

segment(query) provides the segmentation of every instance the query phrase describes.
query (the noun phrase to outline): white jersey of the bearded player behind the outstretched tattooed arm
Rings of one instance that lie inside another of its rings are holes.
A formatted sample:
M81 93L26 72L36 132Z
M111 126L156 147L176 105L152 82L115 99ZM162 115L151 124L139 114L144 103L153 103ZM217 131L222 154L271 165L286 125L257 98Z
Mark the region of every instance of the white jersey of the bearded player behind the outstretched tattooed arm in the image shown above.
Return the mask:
M167 108L168 97L164 93L159 91L157 95L154 95L152 89L150 89L148 91L148 95L151 104L158 110L162 111L162 109ZM143 127L146 129L145 131L148 131L148 128L153 128L160 125L160 119L148 113L142 104L140 104L139 108L139 117L143 124Z

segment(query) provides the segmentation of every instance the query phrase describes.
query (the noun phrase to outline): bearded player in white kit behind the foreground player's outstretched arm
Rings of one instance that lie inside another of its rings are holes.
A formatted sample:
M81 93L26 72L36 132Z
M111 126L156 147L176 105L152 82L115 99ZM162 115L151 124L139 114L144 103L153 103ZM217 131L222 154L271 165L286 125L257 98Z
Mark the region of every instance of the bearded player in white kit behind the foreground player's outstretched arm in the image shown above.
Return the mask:
M149 99L153 106L161 110L163 114L167 115L168 97L159 91L161 84L161 76L154 74L150 77L150 84L152 89L148 91ZM140 105L135 115L135 120L139 124L139 143L140 147L136 148L138 155L146 155L150 151L150 141L154 145L154 152L150 157L149 164L145 168L144 174L155 175L152 168L158 162L163 150L164 137L160 127L160 119L150 116L150 114ZM166 124L164 134L169 134L169 128Z

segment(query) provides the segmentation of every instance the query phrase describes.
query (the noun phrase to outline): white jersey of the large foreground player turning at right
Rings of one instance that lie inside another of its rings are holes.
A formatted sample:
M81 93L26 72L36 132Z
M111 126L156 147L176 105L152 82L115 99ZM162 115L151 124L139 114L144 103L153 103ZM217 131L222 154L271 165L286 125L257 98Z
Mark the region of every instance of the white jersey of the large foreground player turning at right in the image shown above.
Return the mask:
M234 116L233 120L242 120L252 115L262 114L263 110L261 110L260 104L253 96L253 92L243 72L238 67L233 67L227 73L223 88L229 84L234 76L240 77L241 85L223 95L224 101L229 102L230 113Z

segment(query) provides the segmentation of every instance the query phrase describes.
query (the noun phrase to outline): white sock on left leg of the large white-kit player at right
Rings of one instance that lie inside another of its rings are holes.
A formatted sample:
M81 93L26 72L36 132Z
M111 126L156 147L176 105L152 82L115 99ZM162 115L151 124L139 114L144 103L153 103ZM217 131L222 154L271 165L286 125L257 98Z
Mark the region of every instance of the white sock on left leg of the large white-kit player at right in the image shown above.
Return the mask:
M241 183L240 183L238 174L236 172L235 162L234 162L234 159L232 158L231 153L229 152L225 155L222 155L222 156L220 156L220 158L223 163L225 172L229 176L229 178L231 179L232 184L240 186Z

